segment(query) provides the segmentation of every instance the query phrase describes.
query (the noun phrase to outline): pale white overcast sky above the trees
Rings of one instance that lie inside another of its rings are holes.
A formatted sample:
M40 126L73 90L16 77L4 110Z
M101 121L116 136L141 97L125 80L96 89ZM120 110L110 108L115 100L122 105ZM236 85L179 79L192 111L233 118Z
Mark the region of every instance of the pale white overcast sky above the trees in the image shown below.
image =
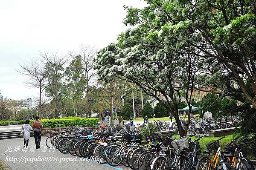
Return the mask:
M143 0L0 0L0 92L12 99L37 95L15 69L39 51L99 48L115 42L126 27L124 5L142 8Z

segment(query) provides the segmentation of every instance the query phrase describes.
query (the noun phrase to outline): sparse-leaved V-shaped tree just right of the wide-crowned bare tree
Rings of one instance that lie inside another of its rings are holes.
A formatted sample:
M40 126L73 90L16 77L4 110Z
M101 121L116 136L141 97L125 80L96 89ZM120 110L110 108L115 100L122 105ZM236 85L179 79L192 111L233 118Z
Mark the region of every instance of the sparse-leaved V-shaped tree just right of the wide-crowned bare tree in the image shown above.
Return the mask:
M57 104L62 90L61 80L64 78L64 66L69 61L69 56L58 55L58 52L41 52L44 59L46 77L48 81L47 94L54 99L53 117L57 116Z

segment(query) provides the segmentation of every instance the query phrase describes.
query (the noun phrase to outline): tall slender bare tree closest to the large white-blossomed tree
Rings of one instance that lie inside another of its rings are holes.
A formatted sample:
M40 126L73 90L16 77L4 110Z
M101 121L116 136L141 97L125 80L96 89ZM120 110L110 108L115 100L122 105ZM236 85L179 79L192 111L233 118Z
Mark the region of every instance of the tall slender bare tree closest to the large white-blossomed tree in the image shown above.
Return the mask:
M86 109L85 114L86 118L88 118L88 111L89 111L89 92L90 86L92 84L92 80L94 75L96 74L95 70L93 69L94 62L93 57L96 55L98 49L95 46L90 45L81 45L79 54L82 58L83 70L86 79L86 90L85 90L85 102L86 102Z

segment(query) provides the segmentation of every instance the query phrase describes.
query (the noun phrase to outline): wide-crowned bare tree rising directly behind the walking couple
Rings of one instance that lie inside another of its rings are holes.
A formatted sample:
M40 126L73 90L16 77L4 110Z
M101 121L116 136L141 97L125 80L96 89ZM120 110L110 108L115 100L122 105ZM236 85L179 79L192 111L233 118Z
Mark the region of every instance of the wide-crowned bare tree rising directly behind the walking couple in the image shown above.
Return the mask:
M39 89L38 116L41 117L42 93L47 87L47 74L44 70L44 64L38 59L30 59L28 63L19 64L21 70L17 71L26 76L25 84Z

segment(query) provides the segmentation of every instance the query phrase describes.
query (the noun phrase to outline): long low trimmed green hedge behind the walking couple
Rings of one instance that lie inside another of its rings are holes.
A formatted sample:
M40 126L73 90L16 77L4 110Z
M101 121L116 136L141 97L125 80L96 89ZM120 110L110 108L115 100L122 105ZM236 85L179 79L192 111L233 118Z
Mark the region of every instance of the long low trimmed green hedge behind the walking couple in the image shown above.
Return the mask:
M29 124L35 120L30 121ZM43 127L73 127L73 126L84 126L84 127L96 127L99 119L98 118L61 118L61 119L41 119Z

